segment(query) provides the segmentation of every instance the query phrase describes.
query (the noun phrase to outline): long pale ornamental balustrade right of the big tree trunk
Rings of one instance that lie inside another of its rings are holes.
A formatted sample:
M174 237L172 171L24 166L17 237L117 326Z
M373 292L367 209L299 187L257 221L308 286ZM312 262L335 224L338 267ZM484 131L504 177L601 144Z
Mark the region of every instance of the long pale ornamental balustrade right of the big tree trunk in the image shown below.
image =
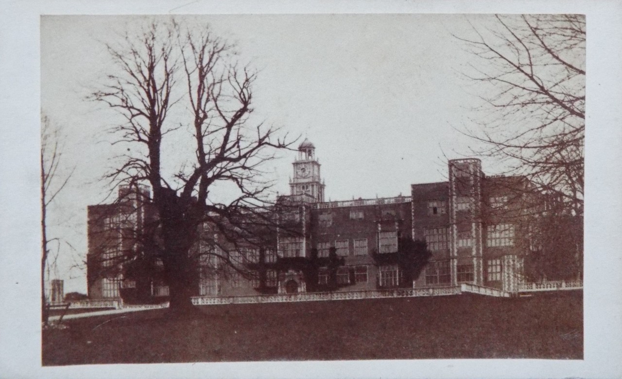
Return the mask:
M430 287L430 288L396 288L391 290L368 291L337 291L318 293L279 293L275 295L248 295L248 296L196 296L192 304L256 304L256 303L287 303L290 301L326 301L350 299L379 299L379 298L410 298L419 296L446 296L460 295L470 292L480 295L509 297L506 291L496 290L463 283L460 286Z

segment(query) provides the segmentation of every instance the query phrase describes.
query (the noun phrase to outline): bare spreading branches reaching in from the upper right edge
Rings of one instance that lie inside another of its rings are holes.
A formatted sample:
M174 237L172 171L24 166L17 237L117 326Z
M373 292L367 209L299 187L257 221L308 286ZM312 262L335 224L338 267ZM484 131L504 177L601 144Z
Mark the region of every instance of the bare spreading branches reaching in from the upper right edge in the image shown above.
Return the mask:
M497 15L472 32L455 36L478 58L465 75L484 102L477 127L463 130L482 142L471 154L494 158L506 175L525 176L582 214L585 17Z

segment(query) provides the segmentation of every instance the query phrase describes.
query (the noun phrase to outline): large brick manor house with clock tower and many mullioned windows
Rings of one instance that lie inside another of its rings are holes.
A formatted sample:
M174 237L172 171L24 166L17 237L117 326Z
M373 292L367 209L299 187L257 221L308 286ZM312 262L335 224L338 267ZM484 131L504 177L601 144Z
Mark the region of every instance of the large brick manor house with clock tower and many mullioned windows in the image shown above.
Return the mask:
M333 252L341 261L336 268L335 291L403 287L404 278L409 276L401 266L378 257L397 253L402 241L411 240L425 241L430 255L425 267L406 283L407 288L471 283L516 291L521 283L524 257L529 251L525 242L528 228L523 222L528 216L521 205L524 189L529 186L524 178L486 176L478 159L450 160L447 181L414 184L410 196L325 201L320 163L309 140L300 144L292 165L290 194L282 199L295 204L298 233L278 234L274 249L262 254L253 247L228 252L231 262L240 262L240 268L243 261L271 263L279 257L310 257L312 252L327 258ZM123 191L128 189L119 189L119 196ZM124 289L131 291L137 286L148 286L154 298L168 295L162 281L137 283L124 278L123 270L104 270L115 265L114 257L134 244L121 231L121 224L141 229L144 220L153 217L142 207L132 209L128 215L119 202L88 207L91 299L119 298ZM222 245L200 247L210 248L223 249ZM236 270L234 265L215 270L218 262L208 263L199 270L195 296L259 295L258 276L252 272L246 275L248 270ZM271 288L271 293L309 292L300 270L268 269L262 280L262 288ZM313 284L321 288L328 280L328 268L319 267L317 283Z

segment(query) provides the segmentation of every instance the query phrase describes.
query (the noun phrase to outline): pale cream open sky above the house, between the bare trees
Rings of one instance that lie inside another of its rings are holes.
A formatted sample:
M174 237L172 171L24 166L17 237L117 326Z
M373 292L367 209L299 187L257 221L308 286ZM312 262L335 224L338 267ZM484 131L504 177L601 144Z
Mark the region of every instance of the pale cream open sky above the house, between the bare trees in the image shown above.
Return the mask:
M471 22L484 18L490 16L469 16ZM86 253L86 206L112 200L101 178L114 166L114 137L106 130L118 116L86 96L104 83L104 75L114 73L104 43L118 43L124 30L149 19L42 17L42 111L61 130L61 173L73 170L49 217L50 235L63 240L53 250L58 260L52 276L65 280L65 292L86 291L85 272L79 268ZM473 143L459 132L468 123L469 109L478 104L461 71L473 56L452 36L471 32L466 16L178 19L198 27L209 24L216 35L236 43L239 61L258 70L253 120L315 144L326 199L392 197L408 194L413 183L445 180L444 157L460 158ZM182 112L170 122L180 122ZM172 138L183 137L187 134ZM289 193L295 152L278 155L266 171L274 191ZM178 162L174 155L167 158Z

